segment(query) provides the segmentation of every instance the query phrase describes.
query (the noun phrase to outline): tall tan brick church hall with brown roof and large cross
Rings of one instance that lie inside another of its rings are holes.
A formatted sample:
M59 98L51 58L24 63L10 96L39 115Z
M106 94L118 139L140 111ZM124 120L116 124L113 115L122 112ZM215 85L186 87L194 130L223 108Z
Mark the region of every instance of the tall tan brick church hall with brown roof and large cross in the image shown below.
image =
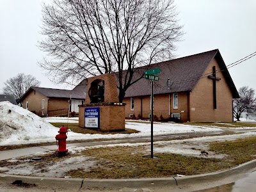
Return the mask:
M154 116L182 122L233 122L232 100L239 93L218 49L138 70L154 68L160 68L159 81L154 81ZM123 100L125 117L150 118L150 93L150 80L132 84Z

